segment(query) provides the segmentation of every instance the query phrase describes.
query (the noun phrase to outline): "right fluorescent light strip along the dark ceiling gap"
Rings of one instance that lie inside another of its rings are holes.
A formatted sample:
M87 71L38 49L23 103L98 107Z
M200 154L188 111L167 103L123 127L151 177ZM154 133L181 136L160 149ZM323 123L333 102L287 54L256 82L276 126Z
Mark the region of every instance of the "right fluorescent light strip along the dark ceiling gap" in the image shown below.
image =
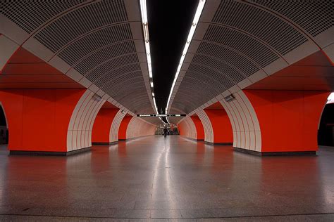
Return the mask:
M169 93L168 102L167 102L167 106L166 106L166 112L168 111L168 105L171 102L171 97L172 97L172 93L173 93L173 90L174 90L174 87L175 87L175 83L178 80L178 75L180 74L180 70L181 70L181 67L183 65L183 61L185 60L185 55L187 54L188 48L190 46L190 42L192 41L192 37L194 36L194 32L196 30L197 23L199 21L199 17L201 17L205 1L206 0L199 0L197 10L196 10L196 13L194 15L194 20L192 20L192 26L190 27L190 31L189 31L189 34L188 34L188 37L187 37L187 41L185 42L185 48L183 48L183 52L182 52L182 55L181 55L181 58L180 58L180 63L178 64L178 70L176 70L176 73L175 73L175 77L174 77L174 80L173 80L171 92Z

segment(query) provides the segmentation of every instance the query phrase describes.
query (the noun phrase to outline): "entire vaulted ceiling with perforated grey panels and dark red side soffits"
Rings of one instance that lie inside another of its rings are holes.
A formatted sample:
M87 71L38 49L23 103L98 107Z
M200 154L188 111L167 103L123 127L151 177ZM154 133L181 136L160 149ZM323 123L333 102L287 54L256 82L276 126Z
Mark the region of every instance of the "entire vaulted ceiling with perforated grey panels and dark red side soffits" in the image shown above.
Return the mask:
M0 87L84 87L130 115L156 112L155 94L164 111L198 3L147 1L150 78L140 1L4 1L0 32L19 50ZM192 115L242 89L281 89L292 77L296 89L333 90L333 8L333 1L207 0L168 112ZM20 77L32 64L32 79ZM306 77L319 84L300 81Z

